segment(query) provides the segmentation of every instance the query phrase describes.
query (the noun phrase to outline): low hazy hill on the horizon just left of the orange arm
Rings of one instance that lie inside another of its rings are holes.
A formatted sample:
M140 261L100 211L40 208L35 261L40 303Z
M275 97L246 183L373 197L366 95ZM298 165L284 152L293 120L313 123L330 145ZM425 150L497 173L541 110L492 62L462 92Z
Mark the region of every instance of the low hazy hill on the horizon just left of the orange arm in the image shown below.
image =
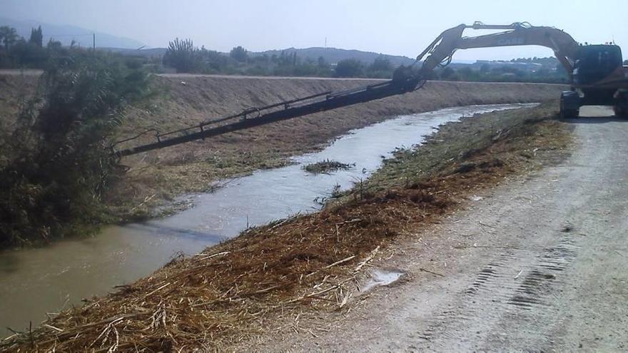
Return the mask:
M393 66L410 65L411 63L414 62L414 59L408 58L407 56L395 56L395 55L388 55L388 54L381 54L381 53L373 53L371 51L347 50L347 49L338 49L338 48L320 48L320 47L303 48L303 49L287 48L283 50L268 50L268 51L261 51L261 52L251 52L249 54L251 56L264 55L264 54L268 56L273 56L273 55L279 56L281 55L282 51L285 53L285 55L292 54L296 51L298 57L310 58L314 61L318 60L320 56L323 56L323 58L325 58L325 61L327 61L328 63L338 63L338 61L341 61L341 60L345 60L348 58L355 58L356 60L369 64L369 63L373 63L373 61L375 61L375 58L378 58L379 56L384 56L385 58L388 58L388 60L390 60L390 63L392 63Z

